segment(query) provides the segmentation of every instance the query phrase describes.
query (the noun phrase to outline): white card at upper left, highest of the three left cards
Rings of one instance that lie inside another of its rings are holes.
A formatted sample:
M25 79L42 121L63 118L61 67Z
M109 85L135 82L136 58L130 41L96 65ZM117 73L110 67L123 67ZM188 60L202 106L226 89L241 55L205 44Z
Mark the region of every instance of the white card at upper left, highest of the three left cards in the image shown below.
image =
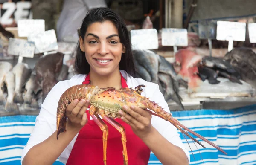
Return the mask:
M28 37L45 31L44 20L18 20L19 37Z

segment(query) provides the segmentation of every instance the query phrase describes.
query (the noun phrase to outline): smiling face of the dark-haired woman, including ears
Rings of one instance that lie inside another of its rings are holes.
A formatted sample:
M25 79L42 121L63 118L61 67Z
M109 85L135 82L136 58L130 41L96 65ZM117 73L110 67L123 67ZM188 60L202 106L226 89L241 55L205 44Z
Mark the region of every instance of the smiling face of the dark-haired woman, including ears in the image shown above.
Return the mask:
M96 22L88 26L80 48L85 52L90 72L109 75L119 71L119 62L125 47L120 43L118 30L111 21Z

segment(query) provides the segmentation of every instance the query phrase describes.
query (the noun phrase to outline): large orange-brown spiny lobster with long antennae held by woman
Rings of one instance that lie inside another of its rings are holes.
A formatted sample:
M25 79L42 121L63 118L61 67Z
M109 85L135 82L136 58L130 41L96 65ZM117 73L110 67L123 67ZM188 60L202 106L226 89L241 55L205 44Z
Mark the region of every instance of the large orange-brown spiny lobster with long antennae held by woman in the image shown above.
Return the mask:
M123 110L122 106L124 105L134 105L149 111L152 115L158 116L166 121L171 122L177 129L180 130L181 133L184 133L189 138L197 142L199 145L204 147L198 140L191 137L189 133L197 136L198 138L204 140L209 145L217 148L219 151L224 152L220 147L215 145L214 143L210 142L209 140L205 139L203 136L199 135L198 133L189 130L189 128L185 127L184 125L180 124L177 119L172 117L171 113L167 113L154 101L150 101L149 98L141 96L143 92L142 87L144 85L138 85L133 88L120 88L116 89L113 87L109 88L99 88L98 86L92 85L75 85L73 87L68 88L62 95L58 101L58 109L57 109L57 139L60 133L66 132L66 119L65 116L66 107L70 104L74 99L88 99L90 100L90 116L93 120L98 124L100 129L103 131L103 161L106 165L106 150L107 150L107 138L108 138L108 129L107 125L103 122L104 119L106 122L111 124L115 127L122 135L122 145L123 145L123 156L124 156L124 165L128 165L128 156L126 150L126 135L125 130L121 124L116 122L114 118L120 118L121 116L118 114L119 110ZM149 110L148 110L149 109ZM153 110L154 112L150 111ZM99 117L102 116L102 119ZM182 130L181 128L184 130ZM186 131L188 132L186 132ZM204 147L205 148L205 147Z

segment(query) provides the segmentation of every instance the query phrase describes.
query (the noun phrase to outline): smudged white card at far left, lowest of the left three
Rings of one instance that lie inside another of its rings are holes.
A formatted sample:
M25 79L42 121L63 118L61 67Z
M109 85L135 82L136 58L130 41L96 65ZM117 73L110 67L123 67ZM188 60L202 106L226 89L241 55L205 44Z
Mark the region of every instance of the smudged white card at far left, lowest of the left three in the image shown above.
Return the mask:
M34 43L19 38L9 38L7 50L9 55L19 55L22 57L33 58L35 52Z

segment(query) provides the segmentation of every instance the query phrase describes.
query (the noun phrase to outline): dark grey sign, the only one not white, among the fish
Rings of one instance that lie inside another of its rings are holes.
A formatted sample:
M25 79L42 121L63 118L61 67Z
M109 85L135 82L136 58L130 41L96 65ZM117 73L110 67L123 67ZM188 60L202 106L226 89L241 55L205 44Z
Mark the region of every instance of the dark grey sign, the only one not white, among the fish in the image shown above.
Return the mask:
M217 23L213 21L200 21L198 35L200 39L216 39Z

